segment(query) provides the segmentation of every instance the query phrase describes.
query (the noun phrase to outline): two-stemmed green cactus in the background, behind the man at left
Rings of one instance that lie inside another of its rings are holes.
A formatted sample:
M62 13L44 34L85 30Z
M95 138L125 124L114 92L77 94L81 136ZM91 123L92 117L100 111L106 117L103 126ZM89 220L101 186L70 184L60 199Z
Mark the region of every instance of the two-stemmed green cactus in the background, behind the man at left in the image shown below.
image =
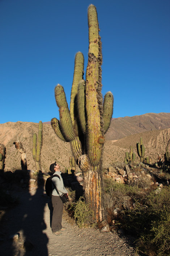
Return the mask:
M36 170L41 170L41 146L42 146L42 121L39 121L38 139L37 134L33 134L33 159L35 161Z

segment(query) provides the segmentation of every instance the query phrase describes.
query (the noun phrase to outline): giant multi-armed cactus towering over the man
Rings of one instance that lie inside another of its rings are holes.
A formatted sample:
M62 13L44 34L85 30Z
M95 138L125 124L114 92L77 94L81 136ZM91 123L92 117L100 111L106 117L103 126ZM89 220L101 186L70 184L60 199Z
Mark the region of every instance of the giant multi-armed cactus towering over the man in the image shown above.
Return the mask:
M86 81L83 80L84 57L78 52L71 90L70 111L61 85L55 88L60 121L51 120L51 125L62 140L71 143L76 162L84 174L86 201L95 212L98 221L103 219L101 158L104 134L110 126L113 111L113 95L107 93L103 103L101 94L101 37L97 11L94 5L88 8L89 54ZM103 111L104 110L104 111ZM105 123L104 123L105 122Z

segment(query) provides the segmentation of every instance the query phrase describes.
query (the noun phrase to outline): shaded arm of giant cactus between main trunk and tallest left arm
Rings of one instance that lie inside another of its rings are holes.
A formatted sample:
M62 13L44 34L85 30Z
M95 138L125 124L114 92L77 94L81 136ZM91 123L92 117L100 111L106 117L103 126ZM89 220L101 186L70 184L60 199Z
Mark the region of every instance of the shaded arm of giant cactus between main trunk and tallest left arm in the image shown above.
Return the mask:
M85 118L85 81L84 80L81 80L78 84L77 107L78 107L78 116L80 120L81 130L85 134L86 118Z

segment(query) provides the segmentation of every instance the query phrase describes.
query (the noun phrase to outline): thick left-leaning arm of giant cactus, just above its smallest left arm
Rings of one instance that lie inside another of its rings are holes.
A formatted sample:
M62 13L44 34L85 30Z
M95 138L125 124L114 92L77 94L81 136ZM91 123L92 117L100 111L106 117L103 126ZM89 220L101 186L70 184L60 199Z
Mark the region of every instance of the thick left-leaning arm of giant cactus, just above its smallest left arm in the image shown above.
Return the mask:
M59 107L60 125L62 128L64 137L68 141L72 141L75 138L75 133L73 131L73 125L72 125L68 104L67 104L65 93L64 93L64 88L59 84L55 87L55 99Z

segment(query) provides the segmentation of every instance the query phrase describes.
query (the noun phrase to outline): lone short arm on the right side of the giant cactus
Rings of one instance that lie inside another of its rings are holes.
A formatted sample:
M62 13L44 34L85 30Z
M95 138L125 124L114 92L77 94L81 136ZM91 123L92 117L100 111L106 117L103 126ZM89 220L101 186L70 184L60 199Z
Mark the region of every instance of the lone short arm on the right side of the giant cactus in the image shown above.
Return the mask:
M107 92L105 94L104 102L103 102L103 122L104 122L104 133L108 130L113 114L113 94L111 92Z

